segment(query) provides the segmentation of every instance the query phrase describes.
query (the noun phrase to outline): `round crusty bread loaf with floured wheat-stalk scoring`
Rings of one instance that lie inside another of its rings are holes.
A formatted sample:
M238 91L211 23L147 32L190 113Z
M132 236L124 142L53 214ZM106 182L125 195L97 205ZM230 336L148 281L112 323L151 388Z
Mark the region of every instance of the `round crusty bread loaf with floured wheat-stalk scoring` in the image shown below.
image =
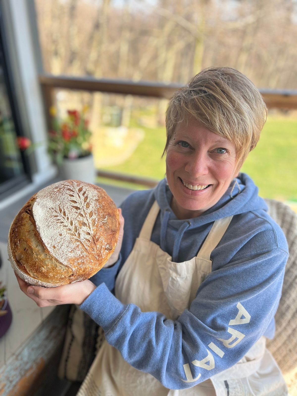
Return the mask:
M112 255L120 229L116 205L100 187L65 180L34 194L8 235L13 270L53 287L90 278Z

